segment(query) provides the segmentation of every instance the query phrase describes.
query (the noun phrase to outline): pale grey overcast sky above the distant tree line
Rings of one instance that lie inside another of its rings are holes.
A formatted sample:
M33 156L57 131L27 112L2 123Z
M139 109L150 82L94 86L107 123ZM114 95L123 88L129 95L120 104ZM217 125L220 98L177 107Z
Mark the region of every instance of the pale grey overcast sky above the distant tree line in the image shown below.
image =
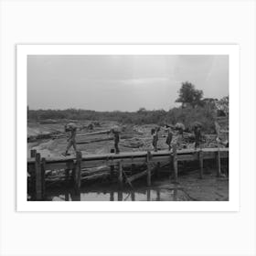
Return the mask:
M229 94L228 56L28 56L29 109L169 110L184 81Z

